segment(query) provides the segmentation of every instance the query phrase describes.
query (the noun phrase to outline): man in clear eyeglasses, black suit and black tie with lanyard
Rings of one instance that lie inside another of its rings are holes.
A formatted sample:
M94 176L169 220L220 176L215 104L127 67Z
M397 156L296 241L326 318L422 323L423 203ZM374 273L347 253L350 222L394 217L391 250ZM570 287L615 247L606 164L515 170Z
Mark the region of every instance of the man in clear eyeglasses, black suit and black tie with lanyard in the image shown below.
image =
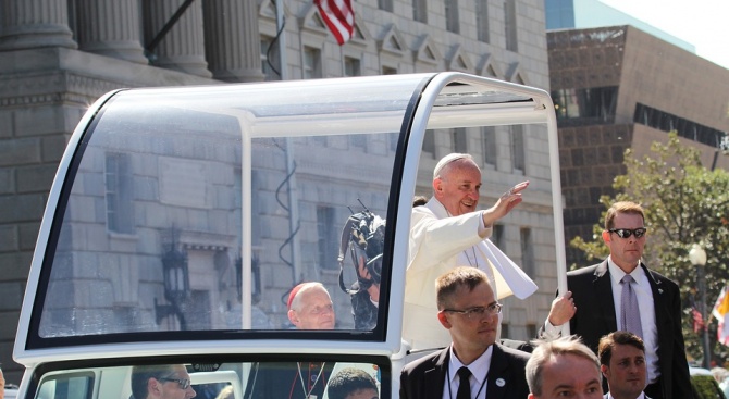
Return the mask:
M529 353L495 342L502 306L489 276L477 267L456 267L435 287L437 320L452 344L403 369L400 398L527 398Z

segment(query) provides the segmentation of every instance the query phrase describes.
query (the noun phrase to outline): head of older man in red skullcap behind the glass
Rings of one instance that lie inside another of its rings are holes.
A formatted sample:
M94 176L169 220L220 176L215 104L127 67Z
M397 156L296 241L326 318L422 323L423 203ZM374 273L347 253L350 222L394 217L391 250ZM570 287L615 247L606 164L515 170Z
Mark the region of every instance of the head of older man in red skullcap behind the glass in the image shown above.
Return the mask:
M299 292L297 309L288 312L288 319L298 329L334 329L334 307L329 294L314 287Z

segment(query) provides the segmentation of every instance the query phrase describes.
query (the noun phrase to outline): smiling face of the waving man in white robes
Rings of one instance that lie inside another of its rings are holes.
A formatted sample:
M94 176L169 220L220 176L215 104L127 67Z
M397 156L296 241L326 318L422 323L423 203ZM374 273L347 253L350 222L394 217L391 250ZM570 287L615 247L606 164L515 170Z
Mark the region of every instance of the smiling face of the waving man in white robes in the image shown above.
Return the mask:
M452 216L475 211L480 189L481 171L470 160L454 161L433 180L435 199Z

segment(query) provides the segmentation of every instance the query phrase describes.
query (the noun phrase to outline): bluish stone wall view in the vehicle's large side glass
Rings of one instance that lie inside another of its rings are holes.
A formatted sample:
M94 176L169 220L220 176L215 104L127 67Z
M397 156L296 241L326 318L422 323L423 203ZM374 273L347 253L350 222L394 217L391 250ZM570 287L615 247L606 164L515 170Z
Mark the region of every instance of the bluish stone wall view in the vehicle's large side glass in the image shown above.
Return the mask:
M159 107L150 132L138 117L149 112L110 110L89 133L40 337L294 329L286 299L302 282L329 291L333 328L374 328L381 261L370 252L382 244L368 249L363 238L344 262L339 244L353 213L386 214L397 132L254 138L243 148L233 117ZM376 234L382 241L384 227Z

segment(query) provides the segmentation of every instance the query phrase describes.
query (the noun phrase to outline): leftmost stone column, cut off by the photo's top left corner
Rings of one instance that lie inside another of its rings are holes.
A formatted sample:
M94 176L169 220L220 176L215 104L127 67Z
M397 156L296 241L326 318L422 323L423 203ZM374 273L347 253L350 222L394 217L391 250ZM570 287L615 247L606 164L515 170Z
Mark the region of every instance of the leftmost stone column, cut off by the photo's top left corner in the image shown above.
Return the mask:
M0 18L0 50L76 48L66 0L2 0Z

